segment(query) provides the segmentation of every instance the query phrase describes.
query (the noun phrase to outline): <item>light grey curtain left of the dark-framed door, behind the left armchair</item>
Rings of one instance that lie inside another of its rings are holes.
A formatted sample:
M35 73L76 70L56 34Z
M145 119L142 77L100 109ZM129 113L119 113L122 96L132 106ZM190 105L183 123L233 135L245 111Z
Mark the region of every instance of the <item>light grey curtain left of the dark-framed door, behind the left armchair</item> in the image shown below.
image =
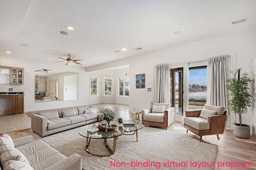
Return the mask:
M170 64L156 65L156 103L170 103Z

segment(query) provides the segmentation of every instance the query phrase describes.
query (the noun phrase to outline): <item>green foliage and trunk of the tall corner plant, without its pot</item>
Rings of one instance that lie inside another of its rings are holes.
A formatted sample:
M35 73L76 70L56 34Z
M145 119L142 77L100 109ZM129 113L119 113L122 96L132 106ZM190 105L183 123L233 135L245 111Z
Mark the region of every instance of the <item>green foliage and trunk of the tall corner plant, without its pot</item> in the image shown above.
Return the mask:
M238 113L239 123L242 126L242 114L247 113L248 107L252 106L250 101L249 84L252 82L248 74L244 74L240 79L230 78L226 80L227 89L230 90L232 99L228 102L231 111Z

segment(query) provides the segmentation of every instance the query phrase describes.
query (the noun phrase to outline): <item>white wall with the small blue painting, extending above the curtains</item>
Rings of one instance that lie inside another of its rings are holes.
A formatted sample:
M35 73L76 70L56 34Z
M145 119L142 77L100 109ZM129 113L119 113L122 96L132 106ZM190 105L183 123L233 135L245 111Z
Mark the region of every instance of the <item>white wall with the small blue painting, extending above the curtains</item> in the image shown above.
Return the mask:
M87 71L100 70L108 67L129 64L130 70L130 98L129 108L137 109L149 106L154 102L154 66L161 63L170 63L172 67L186 65L194 61L206 60L218 55L231 55L234 59L235 68L242 68L242 72L250 72L250 61L256 57L256 29L250 29L238 33L217 36L202 41L196 41L184 45L170 47L159 51L153 51L143 55L130 57L128 59L100 64L86 68ZM136 89L136 74L146 74L146 88ZM147 92L152 88L152 92ZM255 113L254 113L255 114ZM248 115L252 115L250 112ZM244 123L249 124L248 115L244 115ZM229 115L229 126L231 120ZM254 129L256 120L250 123ZM253 131L255 133L255 130Z

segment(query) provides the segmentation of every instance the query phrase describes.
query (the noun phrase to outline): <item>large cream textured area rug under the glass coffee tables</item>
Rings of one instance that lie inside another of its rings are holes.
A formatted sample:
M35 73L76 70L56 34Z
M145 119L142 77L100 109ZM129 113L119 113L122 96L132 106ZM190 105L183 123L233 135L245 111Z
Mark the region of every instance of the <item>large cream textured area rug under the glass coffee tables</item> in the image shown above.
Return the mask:
M167 131L144 127L135 135L122 135L116 141L116 152L108 157L97 157L85 150L86 138L78 134L78 127L48 137L46 143L65 156L74 153L82 156L84 170L210 170L214 169L217 146L189 137L184 130ZM112 139L108 140L112 148ZM90 152L108 153L103 139L92 139Z

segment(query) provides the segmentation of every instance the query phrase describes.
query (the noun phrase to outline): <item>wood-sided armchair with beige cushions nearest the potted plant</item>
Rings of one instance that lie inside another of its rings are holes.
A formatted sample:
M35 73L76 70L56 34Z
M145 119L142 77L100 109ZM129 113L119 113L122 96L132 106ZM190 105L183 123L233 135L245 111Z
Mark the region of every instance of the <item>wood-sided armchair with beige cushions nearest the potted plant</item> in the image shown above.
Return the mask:
M205 110L208 111L208 114L202 115L202 111ZM211 115L210 112L214 113L214 111L216 114ZM217 135L217 139L220 140L219 135L223 134L225 130L226 113L224 107L212 105L205 105L203 109L188 110L185 111L184 127L187 129L187 133L191 131L200 136L200 142L202 136L205 135Z

